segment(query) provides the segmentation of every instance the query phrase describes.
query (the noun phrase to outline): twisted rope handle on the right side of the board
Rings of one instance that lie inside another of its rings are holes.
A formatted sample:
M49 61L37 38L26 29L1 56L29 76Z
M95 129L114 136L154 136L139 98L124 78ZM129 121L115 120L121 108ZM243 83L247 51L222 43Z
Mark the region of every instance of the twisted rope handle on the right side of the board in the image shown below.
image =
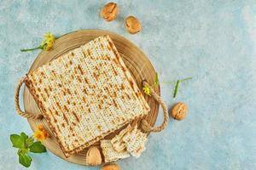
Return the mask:
M157 132L160 132L162 130L164 130L168 124L168 120L169 120L169 115L168 115L168 109L167 109L167 106L166 106L166 103L163 99L160 98L160 96L158 94L156 94L154 92L154 89L151 88L149 85L148 85L148 82L143 80L143 87L148 87L150 89L150 92L151 92L151 95L152 97L160 104L160 106L162 107L163 111L164 111L164 121L162 122L162 124L159 126L159 127L151 127L149 125L149 123L144 119L142 121L142 127L143 127L143 130L145 132L148 132L148 133L151 133L151 132L154 132L154 133L157 133Z

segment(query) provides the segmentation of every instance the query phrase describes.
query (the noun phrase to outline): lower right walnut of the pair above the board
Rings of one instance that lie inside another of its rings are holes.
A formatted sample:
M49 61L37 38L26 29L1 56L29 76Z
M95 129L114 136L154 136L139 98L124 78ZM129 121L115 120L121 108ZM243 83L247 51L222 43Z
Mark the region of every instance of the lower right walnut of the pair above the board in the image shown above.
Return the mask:
M125 27L126 30L129 31L131 34L136 34L137 32L142 30L142 25L137 18L134 16L128 16L125 19Z

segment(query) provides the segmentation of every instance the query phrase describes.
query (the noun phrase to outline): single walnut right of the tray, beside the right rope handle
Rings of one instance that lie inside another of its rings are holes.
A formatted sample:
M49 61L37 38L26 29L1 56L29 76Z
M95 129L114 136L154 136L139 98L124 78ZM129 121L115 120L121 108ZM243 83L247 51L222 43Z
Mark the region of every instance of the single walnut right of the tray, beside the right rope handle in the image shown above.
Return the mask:
M183 120L187 116L188 107L182 102L178 102L176 105L173 105L172 111L170 111L171 116L177 121Z

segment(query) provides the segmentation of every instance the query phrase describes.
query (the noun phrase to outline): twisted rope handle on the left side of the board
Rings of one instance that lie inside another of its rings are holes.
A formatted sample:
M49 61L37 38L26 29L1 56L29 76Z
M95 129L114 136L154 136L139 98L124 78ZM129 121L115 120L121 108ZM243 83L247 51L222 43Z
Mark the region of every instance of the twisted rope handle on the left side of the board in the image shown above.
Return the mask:
M43 118L43 115L37 115L37 116L34 116L32 115L31 113L28 113L28 112L25 112L25 111L21 111L20 110L20 99L19 99L19 95L20 95L20 88L23 84L23 82L25 82L26 80L26 77L22 77L20 79L20 81L17 83L17 87L15 89L15 110L17 111L17 113L20 115L20 116L23 116L23 117L26 117L26 118L32 118L32 119L42 119Z

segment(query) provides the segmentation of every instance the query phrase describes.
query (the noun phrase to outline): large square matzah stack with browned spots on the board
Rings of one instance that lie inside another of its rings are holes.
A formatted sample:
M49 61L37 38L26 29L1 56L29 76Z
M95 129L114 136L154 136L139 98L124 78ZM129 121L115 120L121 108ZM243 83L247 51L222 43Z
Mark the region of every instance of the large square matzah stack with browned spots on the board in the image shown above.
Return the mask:
M149 107L110 37L97 37L26 77L65 156L83 150Z

